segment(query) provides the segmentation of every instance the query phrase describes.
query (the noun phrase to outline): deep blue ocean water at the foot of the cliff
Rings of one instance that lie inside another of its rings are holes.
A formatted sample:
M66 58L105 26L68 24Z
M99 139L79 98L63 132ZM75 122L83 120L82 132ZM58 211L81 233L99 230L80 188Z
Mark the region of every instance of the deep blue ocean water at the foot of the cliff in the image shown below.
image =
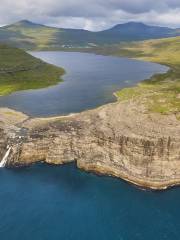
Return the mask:
M180 188L143 191L72 164L0 170L1 240L179 240Z

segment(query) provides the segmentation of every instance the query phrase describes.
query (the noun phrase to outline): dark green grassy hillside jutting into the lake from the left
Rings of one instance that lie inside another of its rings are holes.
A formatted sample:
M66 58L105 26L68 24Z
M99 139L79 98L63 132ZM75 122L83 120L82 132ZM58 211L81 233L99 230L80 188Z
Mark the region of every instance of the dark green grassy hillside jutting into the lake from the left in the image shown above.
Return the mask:
M62 68L44 63L23 50L0 45L0 95L56 84L62 74Z

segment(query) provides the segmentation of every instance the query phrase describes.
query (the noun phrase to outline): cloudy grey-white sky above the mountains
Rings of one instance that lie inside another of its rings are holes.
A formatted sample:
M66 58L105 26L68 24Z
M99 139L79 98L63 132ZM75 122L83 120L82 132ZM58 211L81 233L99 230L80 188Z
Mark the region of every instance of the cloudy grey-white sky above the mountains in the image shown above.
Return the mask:
M128 21L180 27L180 0L0 0L0 25L22 19L98 31Z

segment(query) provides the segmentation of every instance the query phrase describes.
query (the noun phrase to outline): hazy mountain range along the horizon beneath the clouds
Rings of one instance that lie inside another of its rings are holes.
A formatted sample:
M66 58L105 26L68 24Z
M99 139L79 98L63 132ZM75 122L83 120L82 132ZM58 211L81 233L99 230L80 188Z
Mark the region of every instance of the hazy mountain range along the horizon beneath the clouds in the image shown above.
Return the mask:
M147 40L179 35L179 29L148 26L135 22L118 24L99 32L48 27L28 20L22 20L0 28L0 42L6 42L27 50L92 47L116 44L122 41Z

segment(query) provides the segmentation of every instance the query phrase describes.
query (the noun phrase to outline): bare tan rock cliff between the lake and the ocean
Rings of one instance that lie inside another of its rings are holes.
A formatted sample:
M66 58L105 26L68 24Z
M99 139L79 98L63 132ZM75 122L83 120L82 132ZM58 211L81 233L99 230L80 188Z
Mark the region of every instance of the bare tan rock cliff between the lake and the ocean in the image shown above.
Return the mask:
M67 117L32 119L0 110L0 158L7 166L76 161L86 171L136 185L180 184L180 121L148 113L138 102L117 102Z

